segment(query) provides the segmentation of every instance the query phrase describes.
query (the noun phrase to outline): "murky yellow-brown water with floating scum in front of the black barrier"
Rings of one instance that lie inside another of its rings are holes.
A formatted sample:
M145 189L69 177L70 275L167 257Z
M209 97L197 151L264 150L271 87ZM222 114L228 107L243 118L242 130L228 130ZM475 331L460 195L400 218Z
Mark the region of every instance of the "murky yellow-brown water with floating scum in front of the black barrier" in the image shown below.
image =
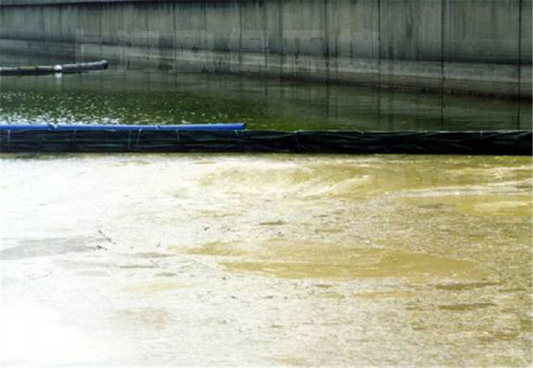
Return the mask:
M1 158L4 364L531 364L531 157Z

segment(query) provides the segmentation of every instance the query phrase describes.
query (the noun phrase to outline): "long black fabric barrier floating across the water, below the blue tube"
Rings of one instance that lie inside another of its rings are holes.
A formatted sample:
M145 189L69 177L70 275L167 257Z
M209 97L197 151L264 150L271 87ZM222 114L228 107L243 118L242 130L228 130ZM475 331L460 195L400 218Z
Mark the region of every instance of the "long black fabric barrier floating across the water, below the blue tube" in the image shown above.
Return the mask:
M531 131L1 131L0 152L532 155Z

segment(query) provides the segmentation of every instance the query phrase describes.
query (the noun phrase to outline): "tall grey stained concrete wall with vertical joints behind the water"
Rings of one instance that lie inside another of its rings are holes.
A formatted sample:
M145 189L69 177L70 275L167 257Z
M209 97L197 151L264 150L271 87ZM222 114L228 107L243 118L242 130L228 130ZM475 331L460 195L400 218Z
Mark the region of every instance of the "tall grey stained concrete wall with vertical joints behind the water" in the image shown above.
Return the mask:
M531 9L532 0L0 0L0 52L531 99Z

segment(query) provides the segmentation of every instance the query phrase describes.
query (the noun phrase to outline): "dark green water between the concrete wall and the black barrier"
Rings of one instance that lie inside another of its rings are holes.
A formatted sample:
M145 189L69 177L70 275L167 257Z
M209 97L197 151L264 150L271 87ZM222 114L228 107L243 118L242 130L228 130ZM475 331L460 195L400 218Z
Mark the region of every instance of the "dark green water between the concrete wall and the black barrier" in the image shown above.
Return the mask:
M531 102L113 69L3 77L0 123L244 122L254 130L531 129ZM520 105L520 106L519 106Z

